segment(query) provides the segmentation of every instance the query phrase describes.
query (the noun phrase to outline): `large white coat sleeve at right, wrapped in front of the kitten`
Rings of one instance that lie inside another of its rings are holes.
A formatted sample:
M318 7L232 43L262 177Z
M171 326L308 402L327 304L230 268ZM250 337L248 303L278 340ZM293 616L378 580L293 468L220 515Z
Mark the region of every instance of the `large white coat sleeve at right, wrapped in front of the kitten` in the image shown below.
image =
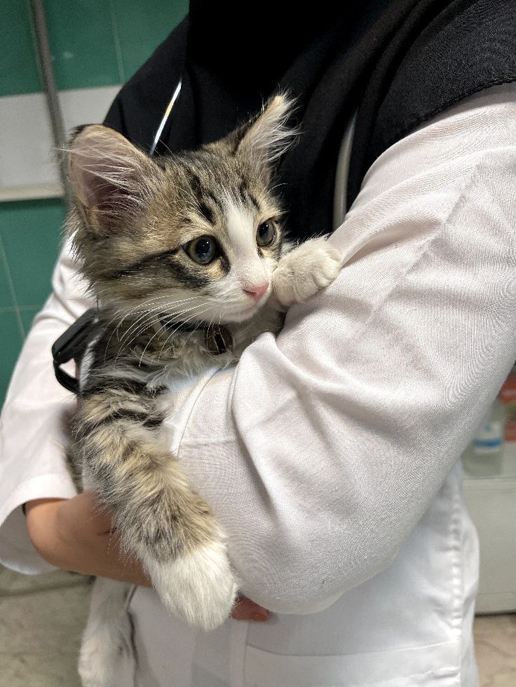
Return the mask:
M515 361L515 96L491 88L383 153L331 237L336 282L171 426L243 592L273 611L393 561Z

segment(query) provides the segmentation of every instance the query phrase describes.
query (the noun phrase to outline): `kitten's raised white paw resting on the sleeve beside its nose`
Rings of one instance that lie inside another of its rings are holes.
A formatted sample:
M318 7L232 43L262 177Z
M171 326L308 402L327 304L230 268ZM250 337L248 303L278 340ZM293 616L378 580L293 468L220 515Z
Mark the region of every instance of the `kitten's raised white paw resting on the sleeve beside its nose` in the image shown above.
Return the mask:
M339 251L324 237L305 241L283 256L273 272L276 300L283 307L304 303L333 282L343 262Z

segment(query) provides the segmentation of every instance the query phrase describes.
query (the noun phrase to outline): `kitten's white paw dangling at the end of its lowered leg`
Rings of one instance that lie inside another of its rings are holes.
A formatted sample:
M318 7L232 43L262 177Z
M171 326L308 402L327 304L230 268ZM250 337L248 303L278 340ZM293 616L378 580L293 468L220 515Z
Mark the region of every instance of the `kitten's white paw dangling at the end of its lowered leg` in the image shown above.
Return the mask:
M214 630L229 617L238 585L222 541L170 562L147 560L145 567L163 604L190 625Z

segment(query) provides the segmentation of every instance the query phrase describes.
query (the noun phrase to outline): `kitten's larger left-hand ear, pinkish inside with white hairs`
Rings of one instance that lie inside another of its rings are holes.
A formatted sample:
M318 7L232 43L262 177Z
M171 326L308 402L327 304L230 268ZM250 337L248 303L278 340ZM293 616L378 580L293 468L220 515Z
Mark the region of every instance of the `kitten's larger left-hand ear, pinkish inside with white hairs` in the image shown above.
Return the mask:
M68 154L72 189L90 228L127 225L144 207L157 165L121 134L101 124L81 127Z

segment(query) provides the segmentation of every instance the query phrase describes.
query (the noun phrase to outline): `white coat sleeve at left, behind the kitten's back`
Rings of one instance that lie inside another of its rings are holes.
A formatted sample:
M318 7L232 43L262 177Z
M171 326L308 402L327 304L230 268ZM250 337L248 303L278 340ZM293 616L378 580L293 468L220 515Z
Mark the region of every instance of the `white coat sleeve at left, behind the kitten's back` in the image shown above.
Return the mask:
M21 505L76 494L64 459L74 396L55 380L50 348L88 307L69 246L53 273L53 293L34 320L0 418L0 562L27 574L52 569L27 534Z

